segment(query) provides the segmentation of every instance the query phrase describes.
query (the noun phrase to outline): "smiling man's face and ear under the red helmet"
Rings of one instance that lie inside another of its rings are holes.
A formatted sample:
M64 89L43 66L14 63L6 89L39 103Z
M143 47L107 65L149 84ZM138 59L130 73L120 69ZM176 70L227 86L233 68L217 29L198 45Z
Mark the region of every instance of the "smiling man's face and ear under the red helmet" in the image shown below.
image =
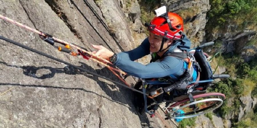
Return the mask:
M150 42L150 51L151 52L158 52L160 50L160 46L162 44L162 36L158 36L154 33L150 32L150 35L148 36L148 40ZM164 43L163 48L167 48L167 46L171 43L169 43L170 40L167 40L167 42Z

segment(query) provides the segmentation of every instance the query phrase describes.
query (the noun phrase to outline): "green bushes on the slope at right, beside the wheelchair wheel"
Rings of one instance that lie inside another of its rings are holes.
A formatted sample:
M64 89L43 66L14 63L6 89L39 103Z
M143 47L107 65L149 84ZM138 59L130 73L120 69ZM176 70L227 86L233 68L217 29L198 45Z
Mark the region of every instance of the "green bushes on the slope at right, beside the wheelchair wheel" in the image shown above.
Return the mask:
M221 58L220 58L221 57ZM237 55L231 57L231 55L222 55L215 58L220 59L220 65L226 67L225 74L229 74L232 78L224 79L220 82L208 88L209 92L220 92L226 95L228 98L233 98L233 104L228 105L225 100L223 105L217 109L217 112L224 118L228 113L235 112L238 114L242 103L239 100L240 96L245 96L252 93L252 96L257 96L257 65L256 58L252 61L245 63L244 60ZM236 127L243 127L247 124L245 121L241 121L236 124Z

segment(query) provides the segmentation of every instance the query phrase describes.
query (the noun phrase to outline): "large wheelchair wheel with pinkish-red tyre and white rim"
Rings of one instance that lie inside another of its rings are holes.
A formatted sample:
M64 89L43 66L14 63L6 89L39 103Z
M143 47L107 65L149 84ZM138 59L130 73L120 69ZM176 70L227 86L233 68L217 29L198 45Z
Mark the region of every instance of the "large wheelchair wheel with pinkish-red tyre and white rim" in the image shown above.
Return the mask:
M166 109L166 115L174 119L191 118L213 111L223 104L225 95L222 93L206 93L193 96L194 102L189 98L180 100ZM194 105L195 107L192 107ZM181 111L183 110L183 111Z

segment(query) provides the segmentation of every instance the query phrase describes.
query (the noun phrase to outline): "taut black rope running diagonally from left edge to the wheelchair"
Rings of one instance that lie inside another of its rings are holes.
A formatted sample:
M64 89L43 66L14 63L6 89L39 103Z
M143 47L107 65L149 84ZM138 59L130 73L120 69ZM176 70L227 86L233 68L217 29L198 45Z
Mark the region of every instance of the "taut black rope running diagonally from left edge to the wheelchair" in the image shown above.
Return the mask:
M111 79L109 79L109 78L103 77L103 76L101 76L101 75L98 75L98 74L93 73L93 72L91 72L91 71L88 71L88 70L86 70L86 69L83 69L83 68L81 68L81 67L79 67L79 66L76 66L76 65L73 65L73 64L68 63L68 62L66 62L66 61L63 61L63 60L61 60L61 59L55 58L55 57L53 57L53 56L51 56L51 55L47 55L46 53L43 53L43 52L41 52L41 51L37 51L37 50L35 50L35 49L29 48L28 46L22 45L22 44L20 44L20 43L18 43L18 42L15 42L15 41L10 40L10 39L8 39L8 38L5 38L5 37L3 37L3 36L0 36L0 39L1 39L1 40L5 40L6 42L12 43L12 44L14 44L14 45L17 45L17 46L19 46L19 47L21 47L21 48L25 48L25 49L27 49L27 50L29 50L29 51L38 53L39 55L43 55L43 56L48 57L48 58L50 58L50 59L53 59L53 60L56 60L56 61L58 61L58 62L64 63L64 64L66 64L66 65L75 67L75 68L77 68L77 69L79 69L79 70L81 70L81 71L84 71L84 72L86 72L86 73L89 73L89 74L91 74L91 75L95 75L95 76L97 76L97 77L100 77L100 78L103 78L103 79L105 79L105 80L111 81L111 82L113 82L113 83L115 83L115 84L121 85L121 86L123 86L123 87L125 87L125 88L128 88L128 89L132 90L132 91L135 91L135 92L139 92L139 93L141 93L141 94L144 94L143 92L138 91L138 90L136 90L136 89L134 89L134 88L128 87L128 86L125 85L125 84L121 84L121 83L116 82L116 81L114 81L114 80L111 80ZM148 94L145 94L145 95L148 96Z

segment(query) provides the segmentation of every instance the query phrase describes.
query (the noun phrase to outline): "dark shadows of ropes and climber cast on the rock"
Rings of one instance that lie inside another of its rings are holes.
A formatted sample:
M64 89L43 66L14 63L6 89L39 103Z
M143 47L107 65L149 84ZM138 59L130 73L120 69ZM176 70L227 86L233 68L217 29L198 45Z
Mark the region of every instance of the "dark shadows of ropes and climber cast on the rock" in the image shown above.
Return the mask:
M118 104L121 104L123 106L125 106L124 104L128 104L129 110L133 113L136 113L141 121L141 126L142 127L147 127L147 128L151 128L150 126L150 121L148 120L148 118L146 117L146 114L143 113L142 115L140 115L136 110L135 110L135 106L134 106L134 93L132 91L130 91L128 88L122 88L122 89L117 89L117 87L121 88L120 85L113 85L113 84L108 84L107 82L103 82L101 80L98 79L97 76L91 75L91 74L87 74L84 71L80 71L79 69L76 69L74 67L71 66L65 66L64 68L53 68L53 67L49 67L49 66L41 66L41 67L35 67L35 66L15 66L15 65L8 65L5 62L0 61L1 64L4 64L6 66L9 67L15 67L15 68L21 68L23 69L23 74L29 77L33 77L36 79L47 79L47 78L52 78L54 77L54 75L56 73L65 73L68 75L84 75L90 79L93 79L97 82L97 84L101 87L101 89L108 95L111 97L111 99L99 95L95 92L92 91L88 91L85 90L84 88L66 88L66 87L58 87L58 86L45 86L45 85L23 85L23 84L11 84L11 83L0 83L0 85L14 85L14 86L29 86L29 87L43 87L43 88L58 88L58 89L69 89L69 90L81 90L81 91L85 91L85 92L89 92L89 93L93 93L96 94L98 96L101 96L103 98L106 98L112 102L116 102ZM117 77L107 68L103 68L103 69L93 69L91 66L83 63L83 62L79 62L81 63L81 68L84 68L88 71L91 71L93 73L97 73L100 74L106 78L112 79L112 80L116 80L117 82L122 83L121 80L117 79ZM40 69L48 69L50 71L50 73L47 74L43 74L40 77L37 76L37 71ZM123 96L121 96L121 94ZM124 98L123 98L124 97Z

